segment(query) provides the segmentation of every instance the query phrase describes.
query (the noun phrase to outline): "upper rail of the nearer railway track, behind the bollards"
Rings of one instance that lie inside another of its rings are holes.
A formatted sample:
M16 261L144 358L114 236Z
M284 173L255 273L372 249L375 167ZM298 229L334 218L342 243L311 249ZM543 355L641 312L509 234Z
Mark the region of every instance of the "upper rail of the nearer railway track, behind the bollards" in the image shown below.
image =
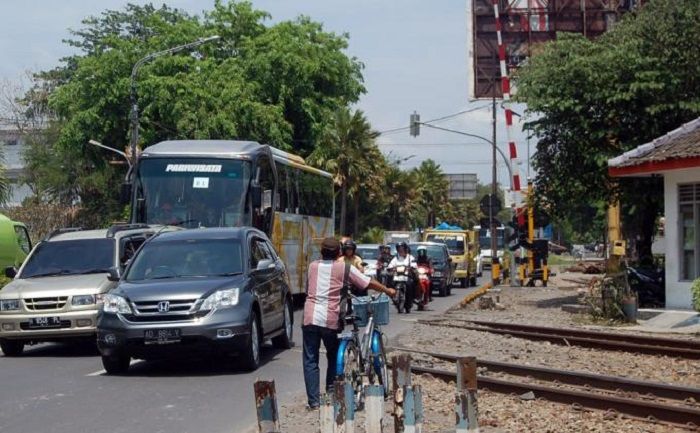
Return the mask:
M402 347L391 347L388 348L388 350L428 355L451 362L454 362L460 358L460 356L457 355L424 352ZM567 385L589 386L591 388L610 391L620 390L624 392L636 392L642 396L648 395L677 401L686 401L692 398L695 401L700 402L700 388L690 386L635 380L625 377L608 376L583 371L559 370L554 368L519 365L507 362L486 361L482 359L477 360L477 367L486 368L487 370L494 372L508 373L514 376L532 377L535 379L552 382L556 381Z

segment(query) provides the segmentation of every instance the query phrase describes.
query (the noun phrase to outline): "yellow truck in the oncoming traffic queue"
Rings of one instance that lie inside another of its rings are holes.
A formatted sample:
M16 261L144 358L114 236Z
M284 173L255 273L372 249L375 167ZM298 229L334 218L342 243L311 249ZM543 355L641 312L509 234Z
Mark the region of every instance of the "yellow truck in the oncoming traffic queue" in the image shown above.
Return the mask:
M479 257L479 242L474 230L439 225L423 233L425 242L439 242L447 246L452 263L456 265L455 281L460 287L476 286L478 276L476 259Z

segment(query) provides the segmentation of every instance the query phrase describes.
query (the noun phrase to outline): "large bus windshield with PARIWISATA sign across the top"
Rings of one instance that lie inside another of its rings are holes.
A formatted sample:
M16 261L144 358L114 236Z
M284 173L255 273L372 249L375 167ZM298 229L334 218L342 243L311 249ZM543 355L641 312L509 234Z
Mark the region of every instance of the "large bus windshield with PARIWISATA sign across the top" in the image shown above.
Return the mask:
M138 222L182 227L250 225L250 162L212 158L143 159L136 173Z

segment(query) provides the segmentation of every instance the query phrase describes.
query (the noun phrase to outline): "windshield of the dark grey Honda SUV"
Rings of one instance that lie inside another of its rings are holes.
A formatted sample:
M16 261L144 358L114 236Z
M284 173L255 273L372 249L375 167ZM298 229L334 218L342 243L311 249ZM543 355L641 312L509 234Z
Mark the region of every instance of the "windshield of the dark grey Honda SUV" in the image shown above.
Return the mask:
M136 255L126 280L236 275L243 271L242 256L236 239L149 242Z

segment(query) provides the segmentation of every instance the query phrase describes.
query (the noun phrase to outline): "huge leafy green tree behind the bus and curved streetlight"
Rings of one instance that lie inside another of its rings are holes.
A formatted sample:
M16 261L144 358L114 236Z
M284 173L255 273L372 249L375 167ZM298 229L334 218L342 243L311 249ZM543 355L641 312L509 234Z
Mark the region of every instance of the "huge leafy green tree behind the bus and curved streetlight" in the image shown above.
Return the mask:
M131 68L146 54L218 34L194 53L141 68L140 146L164 139L244 139L307 156L340 107L364 92L362 64L345 53L347 35L300 17L267 25L250 2L217 1L194 16L130 4L83 21L67 43L79 54L40 74L51 89L58 137L36 152L38 183L53 197L80 201L103 219L119 215L124 165L88 144L124 148ZM59 163L45 165L52 159ZM30 163L31 165L31 163Z

